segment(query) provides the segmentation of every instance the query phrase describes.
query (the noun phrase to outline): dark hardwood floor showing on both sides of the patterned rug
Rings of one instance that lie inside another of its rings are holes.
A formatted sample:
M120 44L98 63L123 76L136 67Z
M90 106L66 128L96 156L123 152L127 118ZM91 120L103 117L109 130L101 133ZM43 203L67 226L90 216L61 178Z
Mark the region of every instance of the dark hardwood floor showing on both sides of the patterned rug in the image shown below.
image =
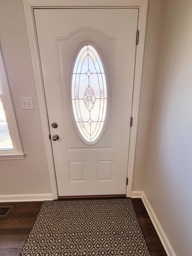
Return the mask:
M167 255L141 199L132 199L137 218L152 256ZM0 217L0 256L19 256L43 202L0 203L13 205Z

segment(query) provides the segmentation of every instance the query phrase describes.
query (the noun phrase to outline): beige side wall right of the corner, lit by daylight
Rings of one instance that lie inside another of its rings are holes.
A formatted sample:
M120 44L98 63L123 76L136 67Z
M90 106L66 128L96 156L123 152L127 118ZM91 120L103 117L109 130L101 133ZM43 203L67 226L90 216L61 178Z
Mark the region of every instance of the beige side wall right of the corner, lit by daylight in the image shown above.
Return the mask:
M177 256L192 254L192 2L167 0L144 193Z

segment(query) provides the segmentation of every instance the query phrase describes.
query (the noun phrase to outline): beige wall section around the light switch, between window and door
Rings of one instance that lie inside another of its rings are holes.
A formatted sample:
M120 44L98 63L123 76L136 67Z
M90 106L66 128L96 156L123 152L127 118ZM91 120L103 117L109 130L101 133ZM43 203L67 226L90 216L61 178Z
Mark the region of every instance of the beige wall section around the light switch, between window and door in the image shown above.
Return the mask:
M15 106L24 160L0 160L0 195L51 193L32 57L21 0L0 1L0 41ZM19 97L33 97L22 110Z

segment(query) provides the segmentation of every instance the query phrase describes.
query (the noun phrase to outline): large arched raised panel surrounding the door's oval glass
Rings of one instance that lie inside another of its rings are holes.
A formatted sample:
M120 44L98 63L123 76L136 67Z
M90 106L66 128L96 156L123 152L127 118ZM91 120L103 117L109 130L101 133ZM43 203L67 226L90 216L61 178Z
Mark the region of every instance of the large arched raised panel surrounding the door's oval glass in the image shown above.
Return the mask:
M106 109L106 122L104 127L104 133L102 132L102 140L99 140L97 145L87 146L85 141L80 139L79 133L77 132L76 127L74 126L73 121L73 111L71 110L71 71L73 69L73 61L77 56L77 51L81 45L86 41L90 44L95 45L98 49L101 59L104 62L104 67L106 69L106 82L108 96L111 101L116 101L116 95L118 86L116 83L116 74L117 74L117 60L119 55L119 38L118 37L107 37L101 31L92 28L82 28L73 31L64 38L55 38L56 43L56 52L57 52L57 63L58 63L58 72L59 72L59 86L60 86L60 95L62 104L62 111L64 116L64 129L65 134L71 134L69 136L65 135L64 142L66 143L67 151L86 151L86 150L111 150L115 148L115 131L116 131L116 108L114 105L109 104ZM65 58L63 58L65 56ZM69 62L66 62L66 59ZM87 89L88 81L84 79L85 90ZM91 84L90 84L91 86ZM112 93L113 92L113 93ZM88 109L85 107L85 103L82 97L82 105L85 111ZM95 101L96 106L96 101ZM72 106L75 106L73 102ZM80 106L79 106L80 107ZM91 110L93 112L94 108ZM113 112L113 115L110 115L110 112ZM108 118L110 116L110 119ZM78 116L74 116L78 119ZM84 121L83 121L84 122ZM88 123L87 123L88 124ZM93 124L92 124L93 125ZM80 129L81 130L81 129Z

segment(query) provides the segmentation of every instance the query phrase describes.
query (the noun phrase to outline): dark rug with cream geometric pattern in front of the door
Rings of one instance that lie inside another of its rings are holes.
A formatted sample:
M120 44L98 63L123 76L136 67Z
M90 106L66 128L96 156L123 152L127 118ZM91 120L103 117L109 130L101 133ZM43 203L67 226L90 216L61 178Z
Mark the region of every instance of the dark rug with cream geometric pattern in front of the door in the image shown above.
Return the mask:
M130 198L45 201L21 256L150 255Z

